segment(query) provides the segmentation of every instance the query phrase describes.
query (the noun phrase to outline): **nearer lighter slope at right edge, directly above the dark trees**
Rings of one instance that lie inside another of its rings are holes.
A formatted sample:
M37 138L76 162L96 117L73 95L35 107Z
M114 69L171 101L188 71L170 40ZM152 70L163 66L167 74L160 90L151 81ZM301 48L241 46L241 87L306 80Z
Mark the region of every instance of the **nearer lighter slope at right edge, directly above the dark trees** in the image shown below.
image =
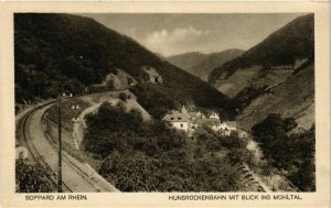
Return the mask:
M313 63L288 78L284 84L264 91L237 118L239 125L249 131L269 113L293 118L298 130L309 130L314 123Z

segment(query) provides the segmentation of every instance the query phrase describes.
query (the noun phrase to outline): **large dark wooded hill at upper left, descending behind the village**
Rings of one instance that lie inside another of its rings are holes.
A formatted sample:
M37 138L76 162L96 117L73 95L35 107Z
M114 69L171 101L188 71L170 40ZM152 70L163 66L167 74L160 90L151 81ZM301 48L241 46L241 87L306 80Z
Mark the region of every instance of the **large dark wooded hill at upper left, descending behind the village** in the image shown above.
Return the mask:
M142 66L162 76L163 85L149 85ZM138 81L138 99L153 92L145 108L175 108L183 103L229 112L229 99L207 83L162 61L132 39L89 18L55 13L14 14L15 101L82 94L118 69ZM168 102L162 101L168 100ZM161 102L162 101L162 102ZM160 106L161 105L161 106ZM156 110L158 111L158 110ZM160 113L160 111L158 111ZM229 113L231 114L231 113Z

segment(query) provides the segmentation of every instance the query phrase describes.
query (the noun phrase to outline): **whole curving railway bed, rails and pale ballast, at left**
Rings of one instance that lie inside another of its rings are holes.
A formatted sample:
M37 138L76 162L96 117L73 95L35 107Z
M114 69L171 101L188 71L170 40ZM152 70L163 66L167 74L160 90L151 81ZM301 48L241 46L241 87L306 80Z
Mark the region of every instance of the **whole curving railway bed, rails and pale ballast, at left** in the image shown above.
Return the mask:
M50 171L49 179L56 185L58 146L50 139L42 124L45 111L54 102L50 101L28 111L18 121L17 133L19 134L19 143L29 150L30 158ZM34 128L38 128L38 131L34 131ZM118 191L94 169L87 168L85 164L79 163L64 151L62 152L62 169L65 174L62 180L63 191Z

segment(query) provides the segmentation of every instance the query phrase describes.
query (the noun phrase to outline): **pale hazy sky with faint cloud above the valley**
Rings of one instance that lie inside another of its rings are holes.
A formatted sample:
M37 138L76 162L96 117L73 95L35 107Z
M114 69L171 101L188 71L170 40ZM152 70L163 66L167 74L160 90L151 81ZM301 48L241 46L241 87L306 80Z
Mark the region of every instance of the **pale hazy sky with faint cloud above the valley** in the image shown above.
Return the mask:
M126 34L163 56L248 50L302 13L81 14Z

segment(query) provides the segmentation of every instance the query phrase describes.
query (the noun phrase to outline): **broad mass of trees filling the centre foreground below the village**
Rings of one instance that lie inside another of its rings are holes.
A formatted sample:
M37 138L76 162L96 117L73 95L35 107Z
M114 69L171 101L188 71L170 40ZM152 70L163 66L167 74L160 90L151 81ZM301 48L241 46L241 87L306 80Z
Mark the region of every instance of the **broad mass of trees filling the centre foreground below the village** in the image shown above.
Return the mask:
M164 122L143 122L138 111L103 103L87 116L83 140L86 151L100 161L98 172L121 191L229 191L242 185L233 160L217 156L237 150L241 141L225 141L207 129L196 139ZM200 133L199 133L200 132ZM215 140L216 147L209 145Z

